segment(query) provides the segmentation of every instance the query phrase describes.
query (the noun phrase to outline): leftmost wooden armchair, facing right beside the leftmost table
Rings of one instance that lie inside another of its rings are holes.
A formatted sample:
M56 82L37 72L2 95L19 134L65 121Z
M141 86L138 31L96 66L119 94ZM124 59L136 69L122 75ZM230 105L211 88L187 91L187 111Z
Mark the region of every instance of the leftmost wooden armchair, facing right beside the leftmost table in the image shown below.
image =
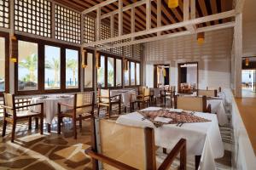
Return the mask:
M44 133L44 103L29 104L28 101L15 102L14 94L3 94L3 133L5 136L7 123L12 124L11 142L15 140L16 124L20 120L28 119L28 129L32 129L32 118L36 118L36 128L38 128L38 119L40 119L40 133ZM40 105L40 112L33 112L29 110L30 106Z

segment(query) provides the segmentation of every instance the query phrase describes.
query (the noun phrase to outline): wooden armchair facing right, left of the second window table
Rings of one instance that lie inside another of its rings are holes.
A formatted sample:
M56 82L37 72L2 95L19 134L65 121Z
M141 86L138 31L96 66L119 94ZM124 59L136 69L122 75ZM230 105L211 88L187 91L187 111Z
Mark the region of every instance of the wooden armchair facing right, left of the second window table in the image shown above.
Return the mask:
M109 89L98 89L98 115L100 114L101 106L105 106L108 109L108 117L110 118L110 112L112 111L112 105L119 105L119 115L121 114L121 95L110 96Z

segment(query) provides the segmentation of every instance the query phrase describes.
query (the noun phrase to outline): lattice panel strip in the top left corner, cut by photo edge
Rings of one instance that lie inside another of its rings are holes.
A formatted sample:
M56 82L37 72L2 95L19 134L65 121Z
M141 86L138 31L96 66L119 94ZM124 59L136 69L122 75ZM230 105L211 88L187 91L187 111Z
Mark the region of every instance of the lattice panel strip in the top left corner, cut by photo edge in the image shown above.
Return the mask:
M0 0L0 27L9 28L9 0Z

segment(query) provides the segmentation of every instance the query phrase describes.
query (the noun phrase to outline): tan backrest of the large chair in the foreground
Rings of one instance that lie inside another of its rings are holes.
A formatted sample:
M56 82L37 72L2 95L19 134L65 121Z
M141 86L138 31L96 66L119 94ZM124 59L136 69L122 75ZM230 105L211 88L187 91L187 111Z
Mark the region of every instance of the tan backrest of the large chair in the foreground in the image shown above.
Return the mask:
M156 168L155 155L148 153L150 151L148 147L154 146L152 128L130 127L102 119L99 123L99 129L102 155L137 169ZM151 159L151 165L149 159ZM116 168L103 163L103 169Z

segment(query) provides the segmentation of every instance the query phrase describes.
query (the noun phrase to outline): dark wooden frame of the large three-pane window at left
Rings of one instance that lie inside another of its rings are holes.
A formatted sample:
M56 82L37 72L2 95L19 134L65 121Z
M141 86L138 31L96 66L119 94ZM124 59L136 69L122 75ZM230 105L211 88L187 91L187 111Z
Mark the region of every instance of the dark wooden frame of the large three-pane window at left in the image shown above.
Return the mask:
M15 63L15 94L16 95L30 95L30 94L59 94L59 93L75 93L80 91L80 70L81 70L81 54L80 48L70 46L67 44L59 42L49 42L37 38L25 37L20 35L15 35L17 41L26 41L38 43L38 90L30 91L19 91L18 90L18 62ZM49 45L53 47L61 48L61 88L60 89L45 89L44 88L44 46ZM19 52L18 43L17 43L17 53ZM66 88L66 48L78 50L79 52L79 65L78 65L78 74L79 74L79 87L78 88ZM19 59L18 59L19 60Z

